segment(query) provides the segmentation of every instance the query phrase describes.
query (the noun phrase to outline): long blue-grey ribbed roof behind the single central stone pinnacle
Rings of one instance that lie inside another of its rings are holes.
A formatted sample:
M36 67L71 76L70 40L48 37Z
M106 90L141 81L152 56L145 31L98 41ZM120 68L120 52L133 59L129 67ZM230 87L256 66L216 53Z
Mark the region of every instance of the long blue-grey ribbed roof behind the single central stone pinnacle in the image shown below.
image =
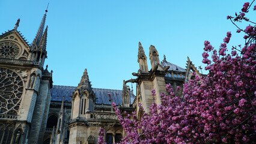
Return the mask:
M62 97L64 96L64 101L71 101L71 97L73 92L75 92L76 86L60 86L60 85L53 85L50 91L52 92L52 97L50 98L51 101L62 101ZM100 88L93 88L95 97L96 97L96 104L111 104L109 101L108 93L111 94L112 100L115 104L121 104L122 99L122 90L116 89L100 89ZM135 95L130 92L130 103L132 104L133 100L135 99Z

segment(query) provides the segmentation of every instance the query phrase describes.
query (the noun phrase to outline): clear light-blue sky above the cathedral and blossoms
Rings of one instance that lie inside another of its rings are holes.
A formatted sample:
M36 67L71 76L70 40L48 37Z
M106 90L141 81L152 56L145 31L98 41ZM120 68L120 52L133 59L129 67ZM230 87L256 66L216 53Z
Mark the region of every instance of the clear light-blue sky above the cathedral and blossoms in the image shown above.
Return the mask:
M48 58L44 67L47 64L48 70L53 70L53 85L77 86L87 68L94 88L122 89L123 80L134 78L132 73L138 71L139 41L149 70L150 45L156 47L160 61L165 54L167 61L185 68L187 56L196 67L204 67L201 54L205 40L218 48L231 31L228 47L244 42L227 20L227 15L241 10L245 1L238 0L0 0L0 34L13 29L20 18L18 31L31 43L48 2ZM255 11L252 17L256 17Z

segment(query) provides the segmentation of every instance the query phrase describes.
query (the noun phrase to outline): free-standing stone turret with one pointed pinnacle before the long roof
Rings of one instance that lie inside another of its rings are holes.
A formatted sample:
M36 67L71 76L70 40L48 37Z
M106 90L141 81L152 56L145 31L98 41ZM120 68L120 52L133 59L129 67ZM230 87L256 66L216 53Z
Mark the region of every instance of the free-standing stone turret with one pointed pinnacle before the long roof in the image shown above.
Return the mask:
M88 124L90 112L94 111L95 94L91 88L91 82L85 69L76 91L72 95L72 112L70 118L70 143L84 143L88 139ZM69 127L70 127L69 126Z

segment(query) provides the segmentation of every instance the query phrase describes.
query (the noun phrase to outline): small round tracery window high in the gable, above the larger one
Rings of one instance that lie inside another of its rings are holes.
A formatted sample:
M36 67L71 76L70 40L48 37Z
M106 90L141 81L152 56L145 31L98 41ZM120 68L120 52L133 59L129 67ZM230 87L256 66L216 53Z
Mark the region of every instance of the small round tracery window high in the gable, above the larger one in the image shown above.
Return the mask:
M1 58L14 58L20 52L19 46L11 42L0 43L0 57Z

